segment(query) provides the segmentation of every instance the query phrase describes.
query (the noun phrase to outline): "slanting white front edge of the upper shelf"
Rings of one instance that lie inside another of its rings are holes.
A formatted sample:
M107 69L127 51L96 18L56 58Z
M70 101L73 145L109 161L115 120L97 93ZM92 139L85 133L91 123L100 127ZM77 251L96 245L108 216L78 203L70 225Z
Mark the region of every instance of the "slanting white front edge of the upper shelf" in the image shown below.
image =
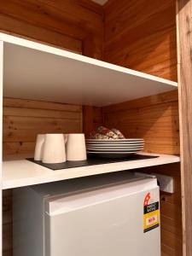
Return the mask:
M131 74L133 76L137 76L137 77L140 77L143 79L149 79L152 81L154 80L154 81L160 82L162 84L169 84L174 87L177 87L177 82L173 82L168 79L161 79L159 77L156 77L156 76L153 76L153 75L150 75L147 73L138 72L138 71L126 68L126 67L119 67L117 65L113 65L108 62L98 61L96 59L92 59L92 58L86 57L84 55L78 55L78 54L69 52L64 49L58 49L58 48L55 48L55 47L52 47L52 46L49 46L46 44L36 43L36 42L30 41L30 40L18 38L18 37L11 36L8 34L0 33L0 41L7 42L10 44L17 44L17 45L28 47L31 49L41 50L41 51L44 51L44 52L47 52L47 53L50 53L53 55L60 55L60 56L66 57L66 58L76 60L76 61L83 61L83 62L92 64L92 65L96 65L98 67L105 67L105 68L108 68L108 69L111 69L111 70L114 70L114 71L117 71L120 73L127 73L127 74Z

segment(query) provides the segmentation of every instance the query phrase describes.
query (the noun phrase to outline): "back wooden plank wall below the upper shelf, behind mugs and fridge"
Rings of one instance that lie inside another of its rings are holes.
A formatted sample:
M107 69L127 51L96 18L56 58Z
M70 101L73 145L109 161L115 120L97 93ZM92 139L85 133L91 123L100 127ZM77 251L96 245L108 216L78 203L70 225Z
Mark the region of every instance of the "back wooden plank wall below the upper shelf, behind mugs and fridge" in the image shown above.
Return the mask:
M34 154L38 133L82 132L79 105L3 99L3 159ZM12 255L12 190L3 192L3 256Z

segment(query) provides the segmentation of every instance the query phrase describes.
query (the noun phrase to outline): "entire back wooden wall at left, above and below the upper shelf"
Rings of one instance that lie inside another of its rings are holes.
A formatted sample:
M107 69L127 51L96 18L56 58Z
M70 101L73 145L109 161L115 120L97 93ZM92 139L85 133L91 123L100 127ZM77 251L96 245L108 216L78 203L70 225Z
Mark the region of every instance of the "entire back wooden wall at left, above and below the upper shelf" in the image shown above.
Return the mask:
M2 0L0 31L102 59L103 9L90 0ZM4 99L3 158L34 151L41 132L82 131L82 109L49 102ZM12 191L3 193L3 256L12 255Z

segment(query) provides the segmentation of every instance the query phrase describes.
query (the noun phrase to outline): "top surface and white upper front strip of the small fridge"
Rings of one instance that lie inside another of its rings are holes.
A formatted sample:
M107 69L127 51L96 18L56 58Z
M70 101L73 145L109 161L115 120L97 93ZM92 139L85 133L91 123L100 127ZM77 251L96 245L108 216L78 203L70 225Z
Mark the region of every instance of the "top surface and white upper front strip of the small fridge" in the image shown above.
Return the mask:
M107 182L108 181L108 182ZM84 207L90 207L105 201L111 201L124 196L134 195L146 190L157 188L157 180L152 177L137 177L134 173L126 173L123 176L97 177L82 183L67 186L63 183L60 195L56 198L48 196L46 202L46 212L49 216L72 212ZM58 193L58 188L55 188Z

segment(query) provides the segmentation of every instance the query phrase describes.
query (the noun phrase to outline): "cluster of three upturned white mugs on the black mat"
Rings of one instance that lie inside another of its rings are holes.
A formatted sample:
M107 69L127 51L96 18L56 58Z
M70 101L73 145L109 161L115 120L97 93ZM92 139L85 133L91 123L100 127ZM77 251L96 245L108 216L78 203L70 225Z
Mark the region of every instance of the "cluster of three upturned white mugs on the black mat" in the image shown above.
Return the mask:
M46 164L59 164L66 160L86 160L86 146L83 133L38 134L34 160Z

